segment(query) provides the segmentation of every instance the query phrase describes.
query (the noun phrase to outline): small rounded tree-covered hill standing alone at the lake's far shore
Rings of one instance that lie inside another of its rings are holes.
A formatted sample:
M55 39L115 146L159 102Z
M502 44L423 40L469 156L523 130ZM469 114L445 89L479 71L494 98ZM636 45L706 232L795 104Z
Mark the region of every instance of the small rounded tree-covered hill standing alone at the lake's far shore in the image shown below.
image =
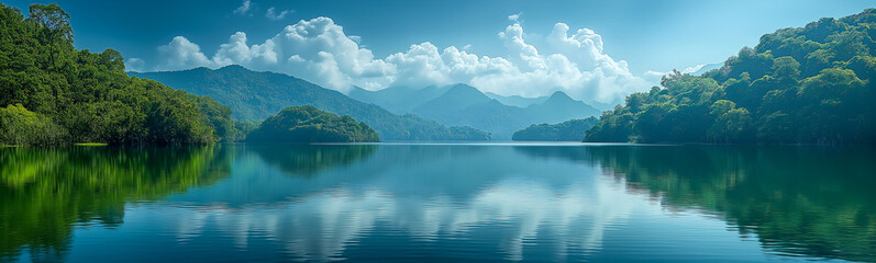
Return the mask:
M306 106L284 108L246 136L259 142L374 142L377 132L352 117Z

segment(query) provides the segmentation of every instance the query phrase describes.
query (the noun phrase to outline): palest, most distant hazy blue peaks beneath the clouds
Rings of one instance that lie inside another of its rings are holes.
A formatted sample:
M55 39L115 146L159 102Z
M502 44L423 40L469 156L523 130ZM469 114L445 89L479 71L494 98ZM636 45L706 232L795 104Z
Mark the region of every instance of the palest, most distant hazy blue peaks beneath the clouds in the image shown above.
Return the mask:
M396 87L379 91L355 89L348 95L397 114L417 114L444 125L487 130L495 139L511 139L514 132L532 124L559 123L600 113L562 91L542 98L501 96L485 94L467 84L453 84L422 89Z

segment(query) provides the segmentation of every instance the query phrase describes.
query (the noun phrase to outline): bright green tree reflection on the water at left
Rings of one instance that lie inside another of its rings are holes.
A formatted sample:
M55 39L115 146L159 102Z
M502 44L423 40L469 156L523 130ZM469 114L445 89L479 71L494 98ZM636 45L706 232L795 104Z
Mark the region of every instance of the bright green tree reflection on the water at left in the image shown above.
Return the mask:
M199 148L0 149L0 260L26 247L62 259L73 225L122 224L127 201L157 198L228 174L230 155ZM221 158L220 158L221 157Z

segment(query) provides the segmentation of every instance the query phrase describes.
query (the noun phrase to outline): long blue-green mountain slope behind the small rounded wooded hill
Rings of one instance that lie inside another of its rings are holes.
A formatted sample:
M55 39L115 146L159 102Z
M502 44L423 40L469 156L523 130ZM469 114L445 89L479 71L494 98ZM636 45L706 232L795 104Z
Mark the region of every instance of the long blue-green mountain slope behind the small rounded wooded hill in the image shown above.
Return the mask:
M241 66L217 70L131 75L160 81L188 92L207 95L234 110L237 119L264 119L289 106L313 105L320 110L368 124L386 140L488 140L489 134L470 127L447 127L417 115L396 115L380 106L347 98L302 79L281 73L256 72Z

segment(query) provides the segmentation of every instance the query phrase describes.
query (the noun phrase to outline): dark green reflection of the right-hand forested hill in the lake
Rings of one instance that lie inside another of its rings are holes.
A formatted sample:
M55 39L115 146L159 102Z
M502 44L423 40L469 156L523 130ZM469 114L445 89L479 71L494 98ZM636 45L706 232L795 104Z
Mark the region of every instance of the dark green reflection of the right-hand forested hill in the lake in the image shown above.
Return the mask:
M873 150L589 147L594 162L673 208L718 211L779 253L876 261ZM574 160L580 160L569 156Z

